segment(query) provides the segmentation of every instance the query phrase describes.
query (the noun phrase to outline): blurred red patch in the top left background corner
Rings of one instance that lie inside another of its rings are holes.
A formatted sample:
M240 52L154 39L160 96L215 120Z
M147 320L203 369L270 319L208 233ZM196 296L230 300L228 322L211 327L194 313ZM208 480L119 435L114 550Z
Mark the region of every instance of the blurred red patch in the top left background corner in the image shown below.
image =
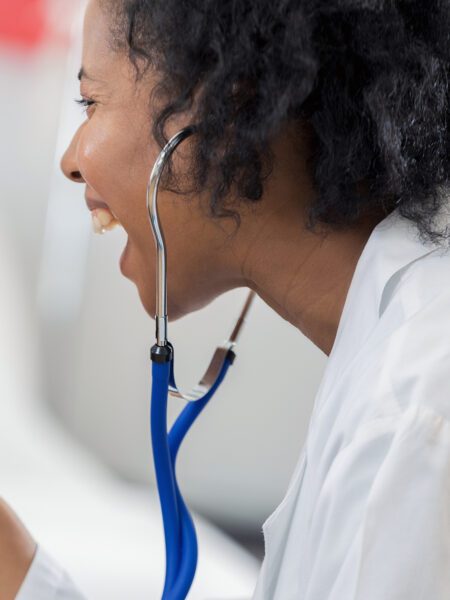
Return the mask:
M32 48L45 33L44 0L0 0L0 43Z

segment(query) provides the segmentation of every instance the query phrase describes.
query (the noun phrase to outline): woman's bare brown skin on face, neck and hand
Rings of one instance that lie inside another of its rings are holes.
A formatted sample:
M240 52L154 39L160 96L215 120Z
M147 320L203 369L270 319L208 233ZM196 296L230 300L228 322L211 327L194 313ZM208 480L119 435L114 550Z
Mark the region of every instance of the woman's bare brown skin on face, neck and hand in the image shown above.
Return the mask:
M121 270L155 314L155 247L145 206L146 185L160 148L151 138L152 90L157 73L136 81L125 52L113 52L109 16L99 0L88 4L83 38L81 96L90 105L62 159L65 175L106 203L128 234ZM177 116L167 134L188 125ZM294 143L296 150L294 151ZM299 143L301 153L299 155ZM174 155L188 173L191 138ZM329 354L356 263L382 215L369 215L341 230L306 229L306 211L316 191L306 167L308 131L287 125L273 140L275 163L263 199L236 207L241 226L208 213L208 193L196 197L161 189L160 219L168 247L168 316L176 320L220 294L248 287L282 318ZM18 518L0 505L0 597L14 597L35 551Z

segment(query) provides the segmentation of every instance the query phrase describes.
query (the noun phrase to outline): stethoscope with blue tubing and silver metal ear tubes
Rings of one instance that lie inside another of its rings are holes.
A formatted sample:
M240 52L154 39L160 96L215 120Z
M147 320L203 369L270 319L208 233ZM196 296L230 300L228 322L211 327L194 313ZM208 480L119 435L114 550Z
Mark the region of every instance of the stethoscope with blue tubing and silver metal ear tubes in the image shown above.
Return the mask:
M174 348L167 340L167 252L158 218L158 186L169 158L195 126L174 135L159 154L147 187L147 209L156 242L156 344L151 349L152 392L150 426L156 482L166 543L166 576L162 600L184 600L197 569L195 527L178 487L175 467L178 451L194 421L222 383L235 359L234 347L254 300L251 291L229 339L219 346L202 379L189 393L179 391L174 377ZM187 405L170 432L167 430L168 397L182 398Z

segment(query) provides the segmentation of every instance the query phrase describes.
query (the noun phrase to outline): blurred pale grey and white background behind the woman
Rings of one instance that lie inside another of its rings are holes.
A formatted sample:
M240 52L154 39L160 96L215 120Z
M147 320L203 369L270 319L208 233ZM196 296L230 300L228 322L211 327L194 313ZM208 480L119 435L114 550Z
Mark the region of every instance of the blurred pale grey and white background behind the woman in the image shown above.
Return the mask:
M81 0L0 0L0 494L90 597L116 597L101 578L120 556L120 585L143 598L163 570L148 424L154 322L120 274L124 232L94 236L84 190L59 171L83 119L82 12ZM246 294L171 324L182 387L203 374ZM192 597L251 591L262 523L286 490L325 366L259 299L237 355L179 462L216 586ZM122 554L111 552L119 538Z

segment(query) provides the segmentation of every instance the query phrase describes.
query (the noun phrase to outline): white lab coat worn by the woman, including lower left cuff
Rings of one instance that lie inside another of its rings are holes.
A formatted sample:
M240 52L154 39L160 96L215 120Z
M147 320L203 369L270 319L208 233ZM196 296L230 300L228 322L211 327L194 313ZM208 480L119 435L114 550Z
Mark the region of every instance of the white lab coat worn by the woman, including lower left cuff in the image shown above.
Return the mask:
M358 260L263 532L253 600L450 599L450 251L398 210ZM16 600L41 597L82 598L38 551Z

